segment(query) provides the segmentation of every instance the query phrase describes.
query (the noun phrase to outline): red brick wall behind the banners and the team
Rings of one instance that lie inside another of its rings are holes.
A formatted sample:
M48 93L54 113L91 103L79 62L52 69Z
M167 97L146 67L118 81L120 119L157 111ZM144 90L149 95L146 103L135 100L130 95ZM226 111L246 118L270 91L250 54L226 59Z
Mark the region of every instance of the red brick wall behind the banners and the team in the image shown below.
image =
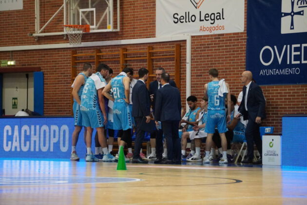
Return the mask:
M62 4L62 0L45 1L41 15L52 15ZM246 1L247 4L247 1ZM1 35L0 46L36 45L68 42L63 36L39 37L35 41L28 33L35 31L34 1L23 0L24 9L0 12ZM85 34L82 41L107 41L122 39L138 39L155 37L155 0L121 0L121 26L119 32ZM245 9L246 10L246 9ZM246 11L245 11L246 15ZM51 31L61 31L62 18L58 17ZM16 29L18 28L18 30ZM47 29L47 28L46 28ZM241 73L245 70L246 57L246 22L245 32L233 34L217 34L192 37L192 95L201 98L203 85L209 82L208 70L217 68L220 78L230 83L231 93L238 95L242 89ZM78 53L93 53L95 49L103 52L118 51L120 47L128 50L145 50L148 45L154 49L171 48L175 43L181 44L180 86L182 104L185 105L186 93L186 43L165 42L152 44L136 44L122 46L105 46L78 48ZM14 51L13 57L17 66L40 66L45 75L45 114L70 114L70 66L71 49L46 49L32 51ZM0 59L9 59L10 52L0 52ZM119 62L107 62L119 71ZM132 67L146 66L143 60L128 62ZM169 72L173 70L173 62L163 59L153 62L153 66L164 66ZM281 118L284 114L307 113L307 85L262 86L267 99L268 119L265 125L275 126L281 131Z

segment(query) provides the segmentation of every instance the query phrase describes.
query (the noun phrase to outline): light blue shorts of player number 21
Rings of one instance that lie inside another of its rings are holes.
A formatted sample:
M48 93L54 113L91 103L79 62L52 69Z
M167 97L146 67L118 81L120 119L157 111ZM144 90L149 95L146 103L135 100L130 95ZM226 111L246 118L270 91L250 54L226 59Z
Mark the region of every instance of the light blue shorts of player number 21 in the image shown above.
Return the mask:
M132 129L132 115L126 102L114 102L113 127L115 130Z

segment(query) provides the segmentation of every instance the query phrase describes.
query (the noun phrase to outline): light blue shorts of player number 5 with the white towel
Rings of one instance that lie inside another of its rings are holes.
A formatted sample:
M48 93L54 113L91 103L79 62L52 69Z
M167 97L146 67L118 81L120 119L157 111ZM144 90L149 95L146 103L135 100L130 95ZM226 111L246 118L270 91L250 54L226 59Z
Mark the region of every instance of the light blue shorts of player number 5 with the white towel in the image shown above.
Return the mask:
M104 118L100 109L85 110L81 107L81 113L83 126L92 128L103 127Z

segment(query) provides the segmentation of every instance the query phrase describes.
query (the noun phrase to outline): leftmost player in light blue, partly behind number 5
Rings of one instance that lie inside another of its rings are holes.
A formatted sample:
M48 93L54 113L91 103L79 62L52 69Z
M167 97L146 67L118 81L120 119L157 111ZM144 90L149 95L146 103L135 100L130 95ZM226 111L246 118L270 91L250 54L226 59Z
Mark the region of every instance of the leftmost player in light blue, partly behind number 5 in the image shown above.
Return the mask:
M84 63L82 72L77 75L75 78L74 83L72 84L72 95L74 98L73 104L73 112L74 112L74 119L75 119L75 130L73 132L72 137L72 152L70 155L71 160L79 160L76 152L76 145L78 142L79 134L82 129L82 114L80 112L80 104L81 104L81 94L84 88L84 84L87 78L92 75L93 67L90 63ZM84 129L84 142L86 137L86 128Z

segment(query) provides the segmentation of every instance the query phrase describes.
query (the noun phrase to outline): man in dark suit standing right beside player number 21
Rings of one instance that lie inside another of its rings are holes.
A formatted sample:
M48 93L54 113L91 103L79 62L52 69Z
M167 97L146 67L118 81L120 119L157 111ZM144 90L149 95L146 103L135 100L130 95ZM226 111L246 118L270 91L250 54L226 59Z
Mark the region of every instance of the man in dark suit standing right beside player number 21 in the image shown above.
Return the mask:
M145 137L145 131L140 129L140 125L144 118L146 118L146 123L150 122L150 98L145 85L148 79L148 70L146 68L140 68L138 70L138 77L139 79L132 90L132 116L136 125L132 163L147 164L148 162L140 157L140 149Z

